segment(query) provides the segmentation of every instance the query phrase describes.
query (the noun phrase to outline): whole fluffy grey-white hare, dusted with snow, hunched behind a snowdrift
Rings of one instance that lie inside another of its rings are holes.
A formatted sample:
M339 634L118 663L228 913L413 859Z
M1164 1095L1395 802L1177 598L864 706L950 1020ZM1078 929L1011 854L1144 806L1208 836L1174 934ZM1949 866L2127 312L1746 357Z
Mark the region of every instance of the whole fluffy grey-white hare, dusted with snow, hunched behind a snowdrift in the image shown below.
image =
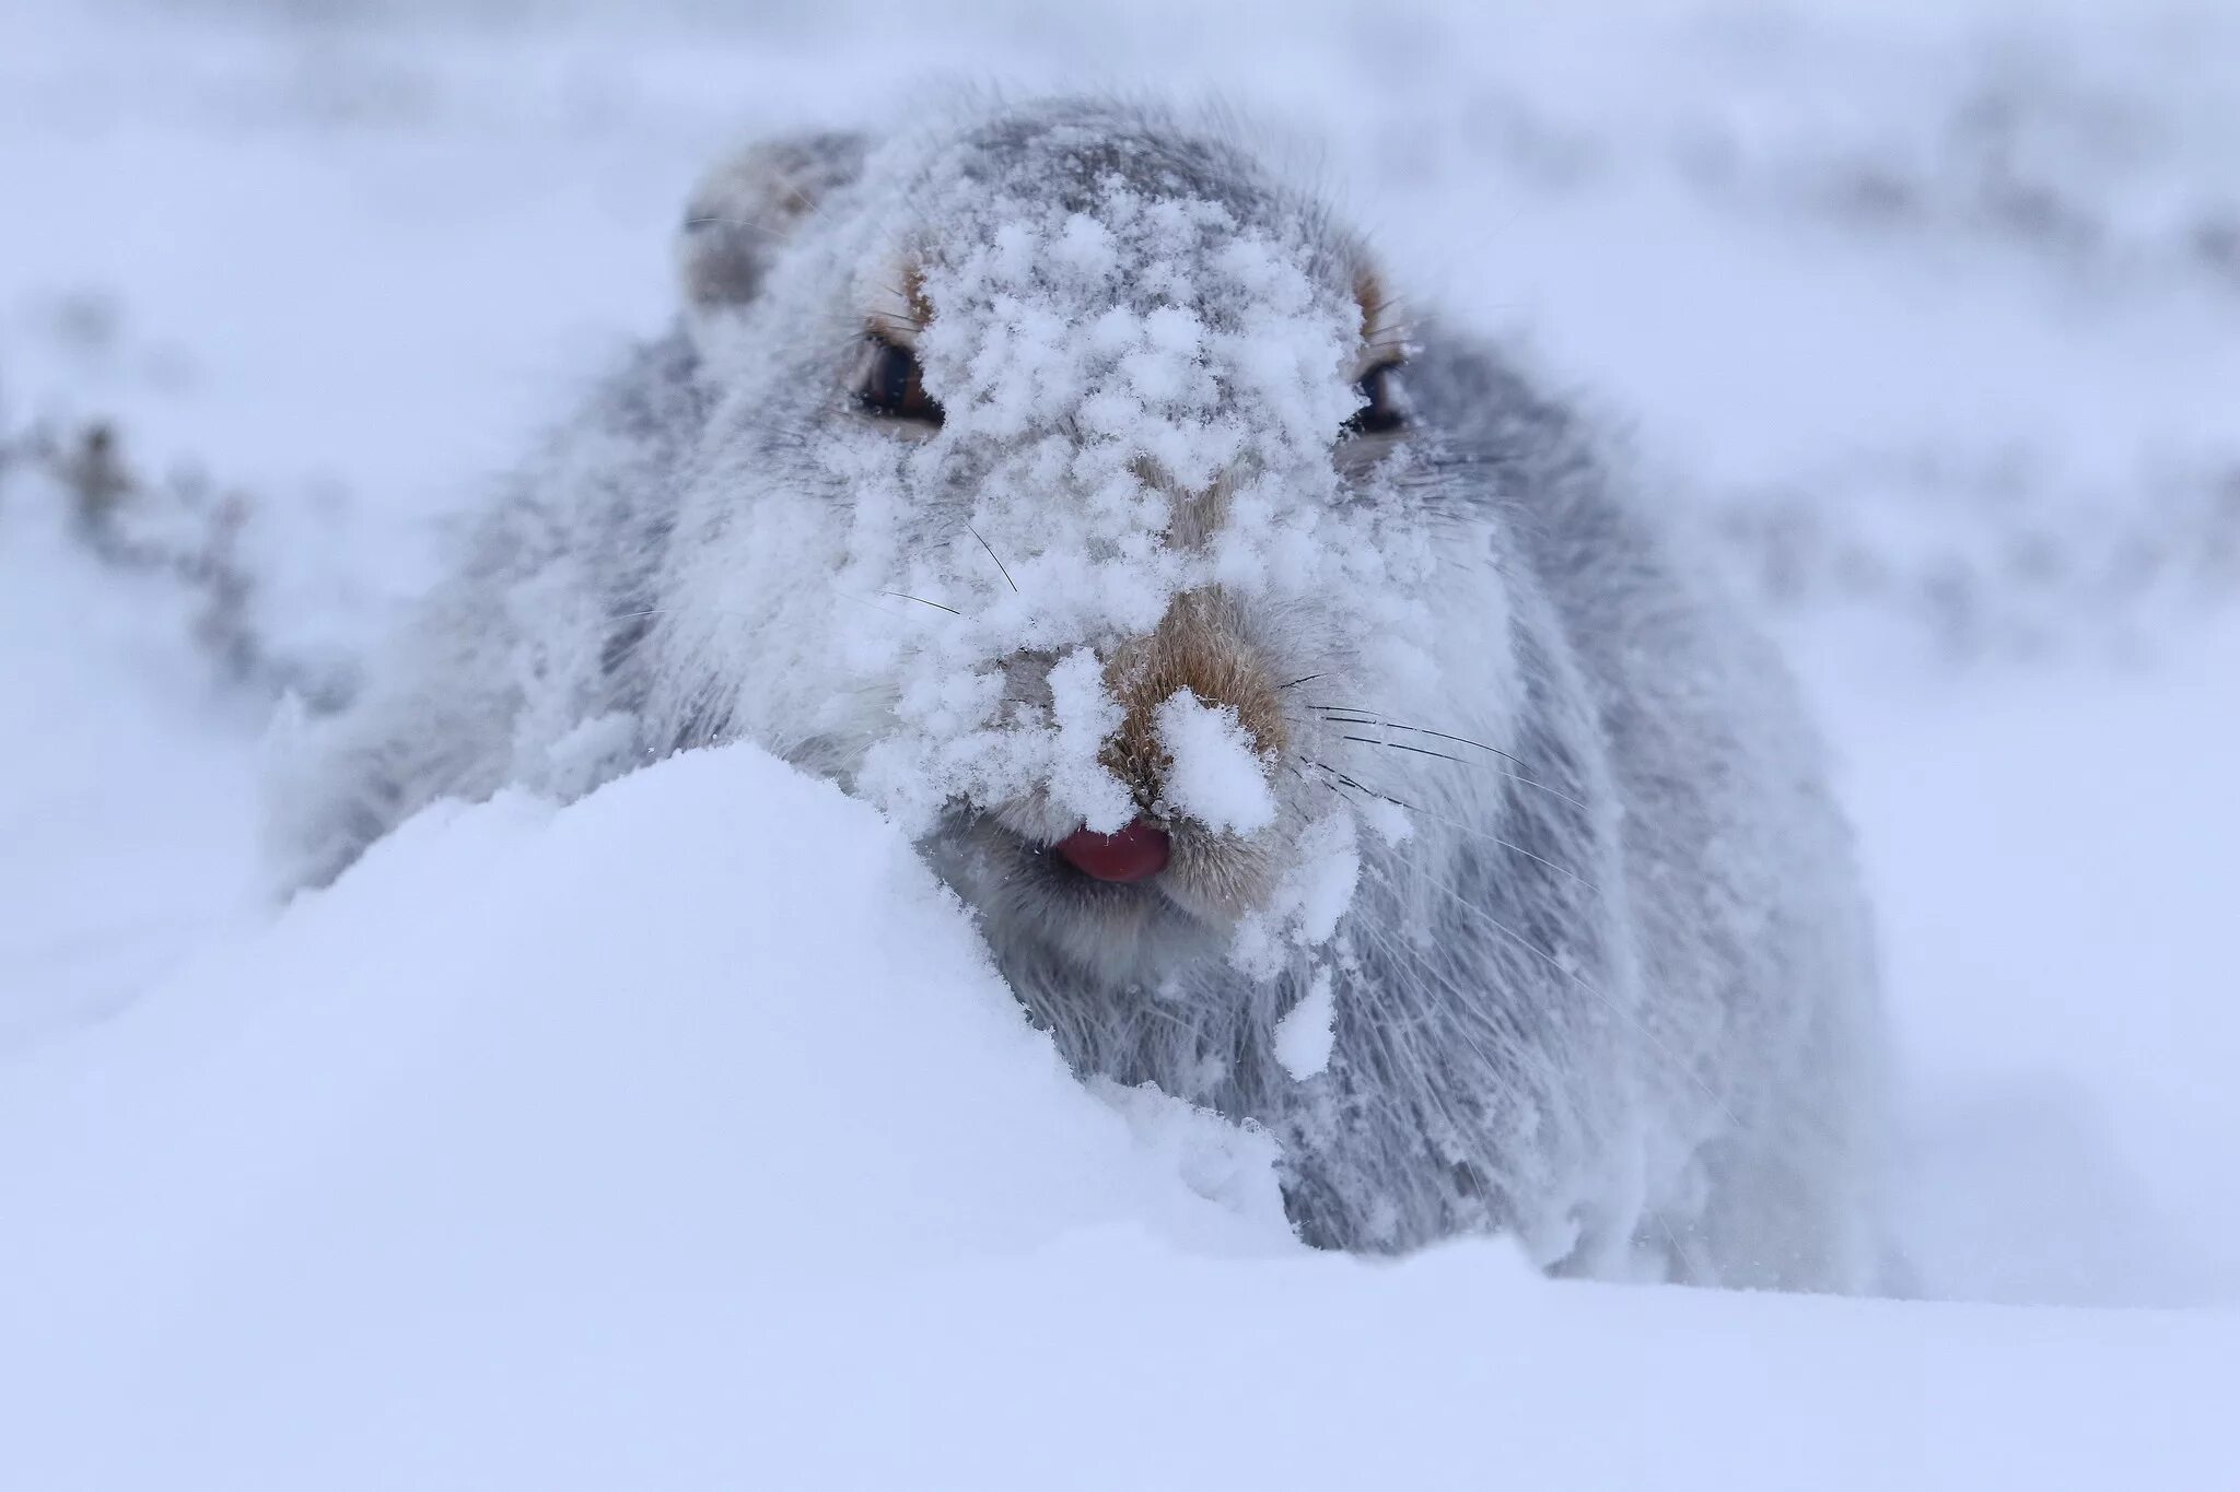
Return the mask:
M681 264L681 329L309 731L289 879L439 796L753 738L918 837L1077 1071L1266 1125L1313 1244L1870 1284L1882 1024L1821 752L1575 412L1422 327L1411 427L1344 438L1402 340L1362 242L1100 101L759 145ZM939 429L858 407L867 336ZM1183 689L1272 828L1167 803ZM1129 805L1156 884L1057 863Z

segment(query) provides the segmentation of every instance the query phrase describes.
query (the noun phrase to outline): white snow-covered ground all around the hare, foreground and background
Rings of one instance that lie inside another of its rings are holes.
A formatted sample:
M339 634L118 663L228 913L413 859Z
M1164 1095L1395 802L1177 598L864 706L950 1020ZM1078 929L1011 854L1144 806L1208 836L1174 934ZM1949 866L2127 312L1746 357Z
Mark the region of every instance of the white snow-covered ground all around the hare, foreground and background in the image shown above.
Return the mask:
M927 76L1221 89L1633 421L1792 644L1931 1300L1306 1255L1252 1136L1071 1083L750 749L435 814L276 919L260 696L18 461L0 1485L2231 1479L2240 13L520 9L0 13L0 438L240 483L262 646L347 653L661 324L717 145Z

